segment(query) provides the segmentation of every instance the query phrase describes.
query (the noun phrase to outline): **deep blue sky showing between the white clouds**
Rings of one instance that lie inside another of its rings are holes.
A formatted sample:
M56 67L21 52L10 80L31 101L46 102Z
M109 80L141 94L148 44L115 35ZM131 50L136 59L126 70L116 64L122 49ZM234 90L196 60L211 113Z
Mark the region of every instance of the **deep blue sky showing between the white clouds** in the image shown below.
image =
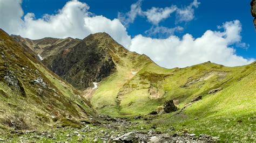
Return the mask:
M23 0L22 8L24 13L33 12L36 18L41 18L45 13L56 13L61 9L66 0ZM96 15L103 15L107 18L117 18L118 12L127 12L130 10L130 5L137 1L118 1L118 0L80 0L90 6L90 12ZM185 6L191 1L188 0L144 0L142 9L146 10L154 7L164 8L173 4ZM252 16L250 15L250 0L207 0L199 1L200 6L195 10L195 19L188 23L181 23L178 25L184 26L184 31L177 32L176 35L182 36L184 33L190 33L195 38L200 37L206 30L217 30L217 25L224 22L238 19L242 24L242 42L250 46L240 48L234 45L237 54L245 58L256 58L256 32L252 23ZM176 26L173 17L164 20L160 25L167 27ZM133 24L127 28L129 34L134 37L137 34L144 34L146 30L151 27L151 24L146 21L145 17L137 17Z

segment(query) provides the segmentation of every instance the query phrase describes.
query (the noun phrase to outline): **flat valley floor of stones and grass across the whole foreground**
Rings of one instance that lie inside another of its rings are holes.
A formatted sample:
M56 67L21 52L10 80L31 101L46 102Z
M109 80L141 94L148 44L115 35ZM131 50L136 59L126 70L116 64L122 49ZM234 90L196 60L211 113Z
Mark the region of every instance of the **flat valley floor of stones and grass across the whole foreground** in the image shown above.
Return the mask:
M95 124L44 128L32 131L3 131L0 141L7 142L215 142L255 141L256 116L189 119L174 115L112 118L99 115ZM168 120L167 120L168 119ZM0 131L1 132L1 131Z

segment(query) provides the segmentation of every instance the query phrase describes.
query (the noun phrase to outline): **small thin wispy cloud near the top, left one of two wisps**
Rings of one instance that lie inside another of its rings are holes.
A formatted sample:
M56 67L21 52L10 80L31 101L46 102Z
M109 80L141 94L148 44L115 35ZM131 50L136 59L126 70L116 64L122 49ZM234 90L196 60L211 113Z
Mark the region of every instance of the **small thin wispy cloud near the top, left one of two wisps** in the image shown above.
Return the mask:
M144 15L147 17L147 20L151 22L154 25L158 25L159 22L162 20L169 18L171 13L177 10L177 6L173 5L171 7L166 8L151 8L144 13Z

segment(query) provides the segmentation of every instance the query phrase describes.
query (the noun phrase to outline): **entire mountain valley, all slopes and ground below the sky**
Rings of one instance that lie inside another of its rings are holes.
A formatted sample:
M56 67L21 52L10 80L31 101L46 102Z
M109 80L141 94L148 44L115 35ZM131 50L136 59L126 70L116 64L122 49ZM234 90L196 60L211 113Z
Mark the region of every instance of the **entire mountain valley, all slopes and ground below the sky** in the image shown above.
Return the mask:
M255 140L256 62L166 69L107 33L0 38L1 141Z

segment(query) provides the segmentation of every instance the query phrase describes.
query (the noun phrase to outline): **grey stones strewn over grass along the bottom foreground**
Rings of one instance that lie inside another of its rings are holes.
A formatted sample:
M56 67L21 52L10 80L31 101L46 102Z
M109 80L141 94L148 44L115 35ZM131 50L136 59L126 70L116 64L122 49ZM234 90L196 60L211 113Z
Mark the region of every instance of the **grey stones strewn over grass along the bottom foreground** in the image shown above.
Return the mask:
M135 118L135 117L134 117ZM218 137L194 133L164 133L156 131L156 126L139 128L140 118L131 121L125 118L111 118L99 115L103 121L100 125L84 124L82 128L52 128L43 131L10 131L9 135L1 137L6 142L215 142Z

